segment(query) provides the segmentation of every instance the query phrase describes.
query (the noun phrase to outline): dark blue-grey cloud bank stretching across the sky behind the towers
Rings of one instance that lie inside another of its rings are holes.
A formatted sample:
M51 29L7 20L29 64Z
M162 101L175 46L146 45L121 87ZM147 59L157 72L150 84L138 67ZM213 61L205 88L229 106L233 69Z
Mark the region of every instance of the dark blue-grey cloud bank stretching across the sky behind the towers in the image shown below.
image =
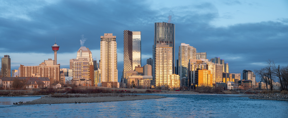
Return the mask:
M239 1L224 2L228 5L241 4ZM25 5L37 6L42 5L42 2ZM100 36L113 33L118 51L121 52L123 31L133 30L142 32L142 55L152 55L154 23L166 22L170 10L174 12L171 23L175 24L176 29L176 57L178 46L185 42L198 52L207 52L209 59L225 59L232 73L242 73L244 69L259 69L264 67L267 59L274 59L281 65L288 63L287 19L215 27L211 22L219 18L219 14L212 3L162 8L157 11L152 10L145 1L58 1L25 12L26 19L16 16L1 17L1 44L5 45L1 45L0 51L51 53L56 36L56 42L60 46L58 52L72 53L81 46L79 40L82 34L89 39L84 46L90 50L100 49ZM227 15L225 17L231 18ZM146 59L142 59L142 65L144 64ZM122 69L123 62L118 62L119 80Z

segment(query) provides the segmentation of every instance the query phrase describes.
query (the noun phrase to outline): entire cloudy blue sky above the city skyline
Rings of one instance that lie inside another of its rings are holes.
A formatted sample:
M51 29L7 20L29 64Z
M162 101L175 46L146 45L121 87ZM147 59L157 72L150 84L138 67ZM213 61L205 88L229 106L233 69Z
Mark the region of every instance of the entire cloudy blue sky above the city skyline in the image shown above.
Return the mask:
M0 55L11 69L54 59L69 68L80 40L100 59L100 36L113 33L118 52L118 81L123 69L123 31L142 32L142 66L152 58L154 23L175 24L175 49L184 42L229 63L230 73L264 67L273 59L288 63L288 1L211 0L0 0ZM175 52L178 52L177 50ZM176 53L177 55L177 53ZM256 81L259 81L258 77Z

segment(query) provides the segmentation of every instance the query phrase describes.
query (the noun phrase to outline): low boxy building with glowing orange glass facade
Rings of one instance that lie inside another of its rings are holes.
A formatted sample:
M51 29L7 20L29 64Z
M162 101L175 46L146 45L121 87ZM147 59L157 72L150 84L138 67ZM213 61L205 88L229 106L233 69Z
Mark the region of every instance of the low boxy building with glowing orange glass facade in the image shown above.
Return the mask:
M195 71L195 84L198 86L213 86L213 76L210 70L197 69Z

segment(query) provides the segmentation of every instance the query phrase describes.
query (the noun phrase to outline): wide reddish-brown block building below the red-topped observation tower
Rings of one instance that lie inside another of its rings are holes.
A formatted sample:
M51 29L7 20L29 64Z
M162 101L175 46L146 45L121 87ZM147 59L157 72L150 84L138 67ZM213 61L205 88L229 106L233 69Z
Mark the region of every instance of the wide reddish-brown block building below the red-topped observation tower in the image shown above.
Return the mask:
M50 83L60 83L60 64L46 65L42 62L37 66L20 65L18 75L19 77L48 77Z

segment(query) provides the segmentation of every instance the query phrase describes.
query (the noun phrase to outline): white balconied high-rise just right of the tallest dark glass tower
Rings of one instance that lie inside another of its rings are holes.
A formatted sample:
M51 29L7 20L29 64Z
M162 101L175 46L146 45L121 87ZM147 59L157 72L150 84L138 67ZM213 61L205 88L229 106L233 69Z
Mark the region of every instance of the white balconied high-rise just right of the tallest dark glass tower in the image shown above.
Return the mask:
M182 80L187 80L188 82L188 63L189 59L196 59L196 48L190 46L189 44L181 43L178 50L178 73ZM180 83L183 85L183 83ZM188 84L186 84L188 86Z

